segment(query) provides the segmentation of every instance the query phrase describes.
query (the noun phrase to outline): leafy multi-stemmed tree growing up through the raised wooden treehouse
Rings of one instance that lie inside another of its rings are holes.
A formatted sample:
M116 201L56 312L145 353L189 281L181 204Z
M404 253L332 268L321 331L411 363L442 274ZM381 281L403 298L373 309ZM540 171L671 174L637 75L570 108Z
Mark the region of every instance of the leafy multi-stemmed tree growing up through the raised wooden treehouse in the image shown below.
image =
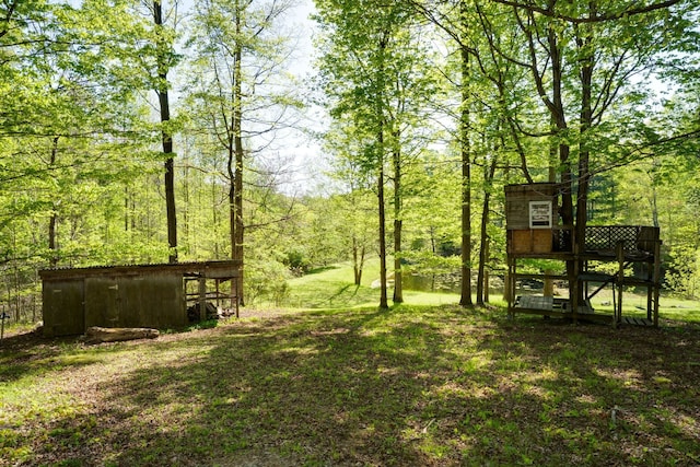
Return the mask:
M501 48L498 54L529 70L534 89L553 124L552 135L559 145L559 182L563 187L560 213L564 226L575 230L579 242L575 248L581 250L592 174L610 164L625 163L625 154L633 152L629 147L619 151L620 145L632 141L630 138L618 140L618 150L609 151L612 142L607 136L623 135L623 126L628 130L643 127L639 120L616 121L608 115L626 100L641 102L643 95L630 89L630 79L652 67L654 57L673 47L685 34L689 23L684 13L693 7L685 1L641 5L595 1L540 5L495 0L495 3L505 7L503 13L510 11L514 15L528 47L525 57ZM629 104L626 107L629 109ZM639 130L635 133L642 136ZM634 140L633 144L637 143L639 140ZM575 269L574 261L569 261L570 290L580 300Z

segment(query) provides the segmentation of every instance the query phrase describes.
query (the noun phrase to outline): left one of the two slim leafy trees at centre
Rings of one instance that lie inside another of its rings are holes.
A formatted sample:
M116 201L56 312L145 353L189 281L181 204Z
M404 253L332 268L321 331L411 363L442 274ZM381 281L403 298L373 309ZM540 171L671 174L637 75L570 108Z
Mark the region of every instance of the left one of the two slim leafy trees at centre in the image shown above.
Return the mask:
M385 157L386 67L395 20L394 5L368 16L369 2L317 1L317 21L326 34L322 85L332 100L331 116L353 121L361 141L355 154L363 171L375 174L378 207L380 308L388 308L386 290ZM376 5L372 5L376 7Z

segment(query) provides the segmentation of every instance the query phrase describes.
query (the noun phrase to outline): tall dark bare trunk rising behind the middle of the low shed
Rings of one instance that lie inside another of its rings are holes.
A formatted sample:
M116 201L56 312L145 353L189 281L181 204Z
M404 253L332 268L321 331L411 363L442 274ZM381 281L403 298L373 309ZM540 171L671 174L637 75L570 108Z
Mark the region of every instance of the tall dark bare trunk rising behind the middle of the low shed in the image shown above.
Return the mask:
M160 0L153 1L153 21L158 31L156 60L158 60L158 101L161 109L161 122L166 124L171 119L170 98L167 95L167 55L162 28L163 9ZM167 215L167 245L170 247L168 261L177 262L177 212L175 210L175 168L173 162L173 137L164 125L161 132L163 154L165 160L165 206Z

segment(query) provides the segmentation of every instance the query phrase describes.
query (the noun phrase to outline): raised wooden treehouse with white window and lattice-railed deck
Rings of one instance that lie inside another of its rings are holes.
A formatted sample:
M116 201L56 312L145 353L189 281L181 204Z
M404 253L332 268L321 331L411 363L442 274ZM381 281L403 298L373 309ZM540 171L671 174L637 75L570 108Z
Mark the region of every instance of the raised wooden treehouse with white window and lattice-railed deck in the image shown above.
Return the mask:
M658 227L644 225L586 226L579 242L572 225L559 217L558 184L509 185L505 187L508 313L529 313L619 324L658 326L661 240ZM527 261L560 261L557 272L528 272ZM532 281L561 281L568 296L551 291L518 294L518 284ZM593 308L591 300L611 288L611 312ZM625 289L646 293L645 317L622 316Z

